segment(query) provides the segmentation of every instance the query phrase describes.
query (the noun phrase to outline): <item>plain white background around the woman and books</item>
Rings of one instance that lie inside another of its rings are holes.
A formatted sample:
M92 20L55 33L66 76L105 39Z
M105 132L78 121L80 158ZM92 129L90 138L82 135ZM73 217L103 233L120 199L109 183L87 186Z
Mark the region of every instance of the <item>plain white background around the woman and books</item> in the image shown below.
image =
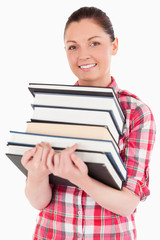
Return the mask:
M29 240L38 211L24 195L25 177L5 156L9 130L25 131L32 116L29 82L74 84L63 43L68 16L96 6L110 17L119 52L112 75L149 105L157 124L150 164L151 196L137 210L138 240L159 238L159 1L2 0L0 2L0 238Z

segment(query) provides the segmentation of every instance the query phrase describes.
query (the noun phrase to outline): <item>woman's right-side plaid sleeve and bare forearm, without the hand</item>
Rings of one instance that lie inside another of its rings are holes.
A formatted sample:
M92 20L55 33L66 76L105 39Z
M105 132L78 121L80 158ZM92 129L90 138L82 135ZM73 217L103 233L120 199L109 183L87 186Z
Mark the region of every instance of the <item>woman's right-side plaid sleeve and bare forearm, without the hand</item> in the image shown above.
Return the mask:
M122 191L103 186L101 183L96 184L95 180L82 185L101 206L122 216L131 214L139 201L145 200L149 195L148 169L155 141L154 118L145 104L134 109L132 119L128 123L127 132L120 140L121 157L128 170L128 178Z

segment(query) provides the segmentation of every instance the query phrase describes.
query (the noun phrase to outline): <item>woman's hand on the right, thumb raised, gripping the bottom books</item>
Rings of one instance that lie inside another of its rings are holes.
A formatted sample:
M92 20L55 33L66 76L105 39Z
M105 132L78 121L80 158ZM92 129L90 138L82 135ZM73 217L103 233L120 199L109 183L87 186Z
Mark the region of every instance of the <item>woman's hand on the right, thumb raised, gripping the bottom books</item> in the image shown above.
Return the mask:
M54 161L48 162L48 169L54 175L65 178L78 185L82 178L88 176L87 165L74 153L77 144L54 155Z

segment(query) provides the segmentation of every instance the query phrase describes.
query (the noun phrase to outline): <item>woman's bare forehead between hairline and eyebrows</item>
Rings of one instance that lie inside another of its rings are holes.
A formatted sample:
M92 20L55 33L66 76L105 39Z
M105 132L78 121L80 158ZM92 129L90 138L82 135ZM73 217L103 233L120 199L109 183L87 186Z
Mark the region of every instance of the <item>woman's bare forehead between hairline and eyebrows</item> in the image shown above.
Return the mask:
M108 35L104 29L93 19L82 19L79 22L72 22L66 29L65 41L89 39L92 36L105 37Z

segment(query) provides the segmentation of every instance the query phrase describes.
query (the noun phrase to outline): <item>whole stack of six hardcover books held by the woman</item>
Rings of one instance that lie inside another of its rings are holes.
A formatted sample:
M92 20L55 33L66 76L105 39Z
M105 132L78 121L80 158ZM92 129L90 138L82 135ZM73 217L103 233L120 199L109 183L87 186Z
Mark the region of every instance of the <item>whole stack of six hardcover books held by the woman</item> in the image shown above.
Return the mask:
M56 84L29 84L33 116L25 132L10 132L9 159L27 176L21 164L25 151L41 141L58 152L77 143L76 154L87 164L89 175L122 189L127 170L118 141L125 116L112 88ZM50 174L50 183L73 185Z

